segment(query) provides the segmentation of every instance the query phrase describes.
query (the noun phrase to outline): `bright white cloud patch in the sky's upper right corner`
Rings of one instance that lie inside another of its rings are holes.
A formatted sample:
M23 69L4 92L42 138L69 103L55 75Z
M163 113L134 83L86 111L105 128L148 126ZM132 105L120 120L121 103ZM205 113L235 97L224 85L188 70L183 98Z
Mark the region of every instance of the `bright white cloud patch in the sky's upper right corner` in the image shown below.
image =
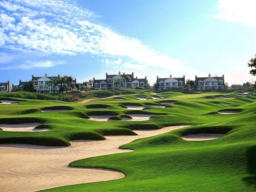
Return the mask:
M255 0L220 0L218 14L214 18L241 22L256 27Z

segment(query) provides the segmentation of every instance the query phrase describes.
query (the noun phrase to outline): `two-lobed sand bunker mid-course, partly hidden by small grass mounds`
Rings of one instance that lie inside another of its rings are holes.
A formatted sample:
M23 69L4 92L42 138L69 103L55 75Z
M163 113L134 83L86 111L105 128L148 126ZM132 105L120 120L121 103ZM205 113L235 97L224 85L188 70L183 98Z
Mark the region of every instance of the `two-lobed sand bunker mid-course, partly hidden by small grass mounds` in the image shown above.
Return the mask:
M149 120L150 117L154 116L152 114L129 114L131 118L122 118L122 121L146 121ZM110 118L111 115L92 115L90 116L89 120L94 120L94 121L120 121L120 120L112 120L108 119Z

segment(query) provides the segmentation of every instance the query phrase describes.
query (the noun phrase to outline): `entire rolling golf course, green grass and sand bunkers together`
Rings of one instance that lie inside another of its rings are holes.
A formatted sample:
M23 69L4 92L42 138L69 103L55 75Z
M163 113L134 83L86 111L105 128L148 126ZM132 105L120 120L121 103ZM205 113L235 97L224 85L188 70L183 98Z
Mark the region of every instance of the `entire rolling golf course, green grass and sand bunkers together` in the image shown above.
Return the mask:
M256 191L256 97L237 95L0 96L0 191Z

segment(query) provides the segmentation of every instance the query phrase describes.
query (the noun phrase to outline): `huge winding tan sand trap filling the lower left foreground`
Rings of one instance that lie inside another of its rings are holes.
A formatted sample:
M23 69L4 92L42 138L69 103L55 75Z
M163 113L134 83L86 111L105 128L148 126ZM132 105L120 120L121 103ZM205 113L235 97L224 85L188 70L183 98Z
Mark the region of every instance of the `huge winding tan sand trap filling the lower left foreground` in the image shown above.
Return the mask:
M107 169L70 168L74 160L107 154L131 152L119 146L138 138L170 132L186 126L169 126L159 130L136 130L136 136L106 136L106 140L77 140L68 147L29 144L0 144L0 191L34 192L81 183L120 179L121 172Z

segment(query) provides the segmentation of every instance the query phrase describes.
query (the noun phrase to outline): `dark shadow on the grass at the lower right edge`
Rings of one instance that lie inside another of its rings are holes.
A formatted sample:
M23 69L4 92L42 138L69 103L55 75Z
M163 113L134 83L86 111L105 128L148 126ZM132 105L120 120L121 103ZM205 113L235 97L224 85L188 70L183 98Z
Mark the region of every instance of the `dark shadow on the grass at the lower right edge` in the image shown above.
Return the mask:
M248 163L248 173L250 176L244 177L243 180L247 182L248 185L254 185L256 189L256 145L251 146L247 149L247 163Z

